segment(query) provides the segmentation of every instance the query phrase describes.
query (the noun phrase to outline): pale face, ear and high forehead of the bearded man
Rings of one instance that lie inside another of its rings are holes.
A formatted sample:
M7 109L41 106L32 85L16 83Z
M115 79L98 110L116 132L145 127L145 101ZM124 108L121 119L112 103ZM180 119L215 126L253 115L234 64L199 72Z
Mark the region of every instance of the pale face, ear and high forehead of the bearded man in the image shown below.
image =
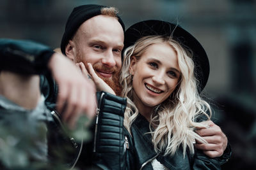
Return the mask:
M100 78L113 80L114 71L122 66L121 52L124 48L124 31L118 20L97 15L86 20L70 39L65 53L73 62L90 62Z

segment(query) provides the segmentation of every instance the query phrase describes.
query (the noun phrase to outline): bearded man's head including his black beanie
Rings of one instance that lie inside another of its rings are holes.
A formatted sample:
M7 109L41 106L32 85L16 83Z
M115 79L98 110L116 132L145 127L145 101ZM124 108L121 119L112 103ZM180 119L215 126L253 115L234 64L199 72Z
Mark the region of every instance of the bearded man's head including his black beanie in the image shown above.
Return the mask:
M116 8L102 7L85 5L72 11L61 41L61 52L75 63L90 62L100 78L113 87L118 84L122 66L125 30ZM120 91L120 86L113 89Z

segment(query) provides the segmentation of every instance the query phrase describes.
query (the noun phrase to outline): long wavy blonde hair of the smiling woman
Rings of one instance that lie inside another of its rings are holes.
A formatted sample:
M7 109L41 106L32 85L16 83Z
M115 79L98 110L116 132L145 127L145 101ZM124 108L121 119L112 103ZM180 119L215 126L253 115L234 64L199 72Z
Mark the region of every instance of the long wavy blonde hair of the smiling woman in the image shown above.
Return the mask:
M139 114L138 108L132 102L132 78L129 73L131 56L136 56L136 59L140 60L140 56L147 50L148 46L166 42L177 53L181 72L180 81L171 96L154 108L150 117L150 133L157 153L174 155L178 148L182 146L185 157L186 148L189 148L191 153L195 152L193 146L195 139L207 143L195 132L196 128L207 127L207 125L205 122L196 122L196 118L204 115L209 120L211 108L198 94L196 87L198 82L196 82L194 75L194 62L191 59L192 53L171 37L145 36L138 39L134 45L126 48L120 74L120 83L124 88L122 96L127 97L124 126L131 134L132 122ZM155 127L155 129L152 127Z

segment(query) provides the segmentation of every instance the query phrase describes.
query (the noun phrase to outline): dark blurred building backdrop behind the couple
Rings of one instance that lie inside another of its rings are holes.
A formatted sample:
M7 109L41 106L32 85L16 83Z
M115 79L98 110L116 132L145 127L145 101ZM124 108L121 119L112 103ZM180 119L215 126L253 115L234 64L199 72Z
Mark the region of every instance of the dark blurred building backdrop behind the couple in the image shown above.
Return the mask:
M81 4L117 7L126 27L161 19L191 32L209 56L204 92L233 149L223 169L256 169L255 0L1 0L0 38L59 47L68 15Z

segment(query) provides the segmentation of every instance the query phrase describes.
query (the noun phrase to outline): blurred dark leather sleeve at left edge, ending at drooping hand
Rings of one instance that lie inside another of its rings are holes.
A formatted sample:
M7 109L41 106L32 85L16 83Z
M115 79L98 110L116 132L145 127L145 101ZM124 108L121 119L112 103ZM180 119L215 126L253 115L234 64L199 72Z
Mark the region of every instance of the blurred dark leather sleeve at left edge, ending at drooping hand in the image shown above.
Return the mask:
M33 41L0 39L0 71L19 74L47 73L52 53L48 46Z

